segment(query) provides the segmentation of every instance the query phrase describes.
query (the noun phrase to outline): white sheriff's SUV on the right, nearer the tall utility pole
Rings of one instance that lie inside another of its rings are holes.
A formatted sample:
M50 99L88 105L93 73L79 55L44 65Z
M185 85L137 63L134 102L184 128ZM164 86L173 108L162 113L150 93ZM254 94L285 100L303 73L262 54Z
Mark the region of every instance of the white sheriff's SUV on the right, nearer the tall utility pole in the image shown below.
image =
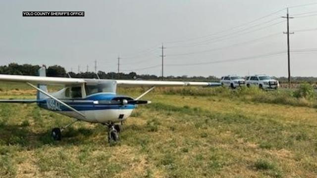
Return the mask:
M254 75L246 78L247 87L257 86L260 89L277 89L279 83L268 75Z

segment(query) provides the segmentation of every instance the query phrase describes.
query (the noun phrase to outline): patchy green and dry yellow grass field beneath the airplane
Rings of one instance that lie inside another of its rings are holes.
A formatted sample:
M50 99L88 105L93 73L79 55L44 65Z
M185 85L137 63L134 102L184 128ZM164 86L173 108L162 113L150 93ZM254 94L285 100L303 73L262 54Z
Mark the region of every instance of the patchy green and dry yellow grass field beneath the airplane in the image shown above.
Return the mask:
M0 98L34 94L0 86ZM84 122L55 142L51 129L70 118L35 104L0 104L0 177L317 177L315 100L258 89L156 89L145 99L153 103L134 111L115 145L104 126Z

